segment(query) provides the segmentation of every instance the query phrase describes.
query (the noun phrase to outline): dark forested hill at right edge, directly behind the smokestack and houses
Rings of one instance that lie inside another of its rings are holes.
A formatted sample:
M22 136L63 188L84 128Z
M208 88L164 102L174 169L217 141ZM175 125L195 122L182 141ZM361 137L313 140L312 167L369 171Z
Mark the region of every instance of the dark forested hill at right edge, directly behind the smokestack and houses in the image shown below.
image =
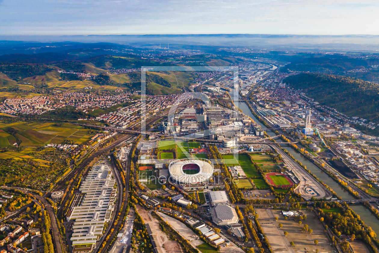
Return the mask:
M348 116L379 121L379 85L340 75L302 73L283 80L302 89L320 105L328 105Z

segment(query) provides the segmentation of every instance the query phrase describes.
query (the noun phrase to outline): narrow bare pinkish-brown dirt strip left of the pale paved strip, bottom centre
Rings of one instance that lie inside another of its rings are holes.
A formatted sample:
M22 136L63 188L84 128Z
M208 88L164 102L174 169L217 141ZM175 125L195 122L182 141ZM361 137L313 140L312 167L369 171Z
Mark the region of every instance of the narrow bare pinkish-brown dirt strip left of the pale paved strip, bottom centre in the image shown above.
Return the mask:
M153 218L153 221L149 217L149 213L140 205L136 205L139 215L143 218L145 224L149 223L150 226L155 227L155 231L157 231L157 239L158 244L161 245L164 250L166 250L166 253L182 253L182 250L180 249L180 246L175 241L170 241L166 233L163 233L163 231L159 228L159 221Z

